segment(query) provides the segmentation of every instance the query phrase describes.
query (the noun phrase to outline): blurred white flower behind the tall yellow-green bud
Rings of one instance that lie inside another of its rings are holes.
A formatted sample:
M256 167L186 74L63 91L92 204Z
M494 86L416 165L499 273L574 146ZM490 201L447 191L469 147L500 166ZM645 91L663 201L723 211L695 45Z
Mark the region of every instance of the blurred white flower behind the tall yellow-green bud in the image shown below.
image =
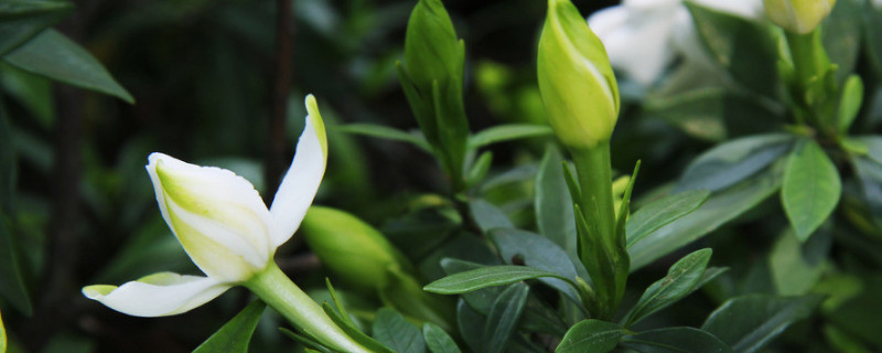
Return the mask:
M746 19L763 15L762 0L692 0ZM679 55L686 63L711 65L682 0L624 0L588 18L613 67L643 86L653 84Z

